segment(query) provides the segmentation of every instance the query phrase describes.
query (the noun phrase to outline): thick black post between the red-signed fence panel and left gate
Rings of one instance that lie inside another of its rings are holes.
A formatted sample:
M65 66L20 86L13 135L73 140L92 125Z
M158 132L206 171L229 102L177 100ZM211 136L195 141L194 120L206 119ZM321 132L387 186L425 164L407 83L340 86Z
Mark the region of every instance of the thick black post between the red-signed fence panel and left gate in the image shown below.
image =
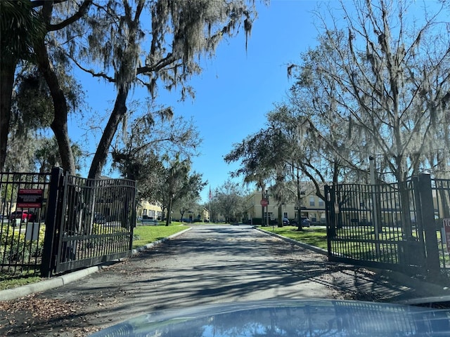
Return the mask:
M51 170L49 187L49 199L47 199L47 216L45 220L44 249L42 251L41 277L50 277L53 271L54 244L56 237L56 225L58 206L60 199L60 185L63 177L63 169L54 167Z

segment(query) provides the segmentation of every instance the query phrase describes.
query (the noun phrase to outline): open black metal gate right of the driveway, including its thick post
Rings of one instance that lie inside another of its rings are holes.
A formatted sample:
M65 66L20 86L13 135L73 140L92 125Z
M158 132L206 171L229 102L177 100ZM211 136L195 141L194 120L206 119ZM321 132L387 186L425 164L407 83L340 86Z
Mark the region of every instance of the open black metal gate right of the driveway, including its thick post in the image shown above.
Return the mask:
M439 273L431 185L424 174L401 184L326 186L329 260Z

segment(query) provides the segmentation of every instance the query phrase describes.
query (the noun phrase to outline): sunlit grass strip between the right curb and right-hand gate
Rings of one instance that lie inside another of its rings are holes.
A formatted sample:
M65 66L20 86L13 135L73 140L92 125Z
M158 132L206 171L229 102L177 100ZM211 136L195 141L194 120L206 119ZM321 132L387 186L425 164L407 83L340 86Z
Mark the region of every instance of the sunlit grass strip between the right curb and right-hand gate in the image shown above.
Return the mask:
M326 228L323 227L305 227L303 230L297 230L295 226L283 226L283 227L263 227L264 230L274 232L288 237L298 242L304 242L311 246L316 246L322 249L327 249L326 243Z

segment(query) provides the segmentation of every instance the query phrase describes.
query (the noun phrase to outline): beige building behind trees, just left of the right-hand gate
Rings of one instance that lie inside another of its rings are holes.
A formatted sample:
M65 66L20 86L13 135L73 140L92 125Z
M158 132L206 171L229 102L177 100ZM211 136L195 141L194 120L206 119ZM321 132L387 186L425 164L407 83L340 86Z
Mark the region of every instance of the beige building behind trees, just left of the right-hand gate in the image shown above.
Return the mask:
M255 224L260 223L262 218L267 220L267 216L269 216L269 220L278 218L278 204L276 204L276 201L271 201L269 196L269 205L264 207L263 211L261 206L262 199L262 192L254 192L247 198L247 217L252 223L253 221L255 221ZM283 218L297 220L299 209L295 204L288 203L281 205L281 212L283 213ZM300 206L300 216L309 218L311 223L325 223L325 202L316 195L304 195Z

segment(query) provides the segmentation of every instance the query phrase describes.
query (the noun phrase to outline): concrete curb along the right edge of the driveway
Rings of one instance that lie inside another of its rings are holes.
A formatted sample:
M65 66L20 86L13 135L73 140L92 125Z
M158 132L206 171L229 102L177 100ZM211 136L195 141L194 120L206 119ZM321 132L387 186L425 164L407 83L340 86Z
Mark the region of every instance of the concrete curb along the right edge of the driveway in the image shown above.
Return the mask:
M260 232L264 232L274 237L278 237L286 242L290 242L291 244L296 244L297 246L302 246L303 248L328 256L328 251L326 251L325 249L321 249L316 246L311 246L310 244L305 244L304 242L298 242L288 237L283 237L280 234L270 232L269 230L263 230L258 227L254 228L256 230L259 230ZM438 297L441 298L445 296L450 296L450 287L447 286L440 286L439 284L425 282L420 279L415 279L413 277L409 277L408 275L401 274L401 272L394 272L393 270L385 270L375 267L364 267L364 268L376 272L378 275L387 277L388 279L393 279L395 282L398 282L399 284L404 284L405 286L408 286L411 289L416 289L420 291L422 296L430 296L430 298L438 298ZM426 298L423 298L423 300L425 299Z

